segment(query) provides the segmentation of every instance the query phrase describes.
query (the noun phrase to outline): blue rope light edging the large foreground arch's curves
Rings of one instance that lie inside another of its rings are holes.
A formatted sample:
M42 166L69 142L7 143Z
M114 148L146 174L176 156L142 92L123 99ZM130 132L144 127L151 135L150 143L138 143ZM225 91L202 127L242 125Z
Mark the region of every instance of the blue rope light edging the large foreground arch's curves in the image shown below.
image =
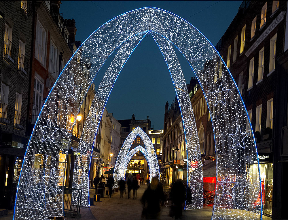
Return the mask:
M153 9L158 9L158 10L160 10L160 11L165 11L165 12L167 12L167 13L169 13L169 14L172 14L172 15L180 18L180 19L183 20L184 22L190 24L190 22L188 22L188 21L186 21L185 19L183 19L183 18L175 15L174 13L171 13L171 12L169 12L169 11L166 11L166 10L164 10L164 9L160 9L160 8L157 8L157 7L142 7L142 8L139 8L139 9L134 9L134 10L131 10L131 11L122 13L121 15L112 18L111 20L107 21L105 24L109 23L110 21L112 21L112 20L114 20L114 19L116 19L116 18L118 18L118 17L120 17L120 16L122 16L122 15L124 15L124 14L130 13L130 12L132 12L132 11L137 11L137 10L141 10L141 9L148 9L148 8L150 8L150 9L152 9L152 8L153 8ZM80 47L82 47L82 45L90 38L90 36L92 36L97 30L99 30L99 29L100 29L101 27L103 27L105 24L103 24L102 26L100 26L99 28L97 28L92 34L90 34L90 35L86 38L86 40L84 40L84 42L81 44ZM246 115L247 115L247 118L248 118L248 121L249 121L249 124L250 124L250 127L251 127L251 134L252 134L252 137L253 137L253 140L254 140L255 150L256 150L256 155L257 155L257 165L258 165L258 173L259 173L259 188L260 188L260 193L261 193L261 196L260 196L260 197L261 197L261 206L260 206L260 207L261 207L261 212L260 212L260 218L261 218L261 220L262 220L262 212L263 212L263 210L262 210L262 203L263 203L263 201L262 201L261 175L260 175L260 169L259 169L259 158L258 158L258 151L257 151L256 141L255 141L254 134L253 134L253 132L252 132L252 131L253 131L253 130L252 130L252 125L251 125L250 118L248 117L247 109L246 109L246 107L245 107L245 104L244 104L244 101L243 101L243 99L242 99L242 96L240 95L240 91L239 91L239 89L238 89L238 86L236 86L236 82L235 82L234 78L232 77L232 74L230 73L227 65L226 65L225 62L224 62L224 60L223 60L222 57L220 56L219 52L215 49L215 47L213 46L213 44L206 38L206 36L205 36L204 34L202 34L202 32L200 32L200 31L199 31L195 26L193 26L192 24L190 24L190 25L191 25L193 28L195 28L195 29L210 43L210 45L213 47L213 49L217 52L217 54L219 55L220 59L223 61L224 65L225 65L225 67L226 67L226 70L228 71L228 73L230 74L230 76L231 76L231 78L232 78L232 80L233 80L233 82L234 82L234 85L235 85L235 87L236 87L236 89L237 89L237 91L238 91L238 94L239 94L239 96L240 96L240 98L241 98L241 101L242 101L242 104L243 104L243 106L244 106L244 109L245 109L245 112L246 112ZM136 35L141 34L141 33L144 33L144 32L147 32L147 31L143 31L143 32L134 34L133 36L136 36ZM148 32L150 32L150 31L148 31ZM154 32L154 31L151 31L151 32ZM155 33L157 33L157 32L155 32ZM146 33L146 34L147 34L147 33ZM145 34L145 35L146 35L146 34ZM157 34L158 34L158 33L157 33ZM151 34L151 35L152 35L152 34ZM161 35L161 34L160 34L160 35ZM130 36L129 38L131 38L131 37L133 37L133 36ZM153 36L153 35L152 35L152 36ZM161 36L162 36L162 35L161 35ZM165 36L163 36L163 37L166 38ZM129 38L127 38L126 40L128 40ZM154 38L154 37L153 37L153 38ZM166 39L169 40L168 38L166 38ZM121 46L126 40L124 40L122 43L120 43L120 45L118 45L118 47ZM155 40L155 39L154 39L154 40ZM175 45L175 43L173 43L171 40L169 40L169 41L181 52L181 50ZM141 41L140 41L140 42L141 42ZM140 43L140 42L139 42L139 43ZM157 45L158 45L158 44L157 44ZM80 47L79 47L79 48L80 48ZM111 56L111 54L112 54L118 47L116 47L116 48L110 53L110 55L107 57L107 59ZM158 47L159 47L159 45L158 45ZM59 74L56 82L58 82L58 80L59 80L60 76L62 75L63 71L65 70L66 66L70 63L71 59L75 56L75 54L77 53L77 51L79 50L79 48L75 51L75 53L74 53L74 54L72 55L72 57L69 59L69 61L67 62L67 64L66 64L65 67L63 68L62 72ZM161 53L162 53L162 52L161 52ZM182 53L182 52L181 52L181 53ZM162 55L163 55L163 53L162 53ZM183 53L182 53L182 55L185 57L185 55L184 55ZM186 57L185 57L185 58L186 58ZM103 62L103 64L107 61L107 59ZM187 58L186 58L186 60L187 60ZM189 63L189 65L190 65L190 67L192 68L192 66L191 66L191 64L190 64L189 61L188 61L188 63ZM101 65L101 67L103 66L103 64ZM99 70L101 69L101 67L99 68ZM98 72L99 72L99 70L98 70ZM195 74L195 71L193 70L193 68L192 68L192 71L193 71L194 74ZM97 73L98 73L98 72L97 72ZM169 72L170 72L170 71L169 71ZM93 78L93 80L91 81L91 84L92 84L92 82L94 81L97 73L94 75L94 78ZM171 73L170 73L170 74L171 74ZM205 95L205 93L204 93L203 86L202 86L202 84L200 83L198 76L197 76L196 74L195 74L195 76L197 77L198 82L199 82L199 84L200 84L200 86L201 86L201 89L202 89L202 91L203 91L203 94L204 94L204 97L205 97L205 100L206 100L206 103L207 103L207 105L208 105L208 109L209 109L209 112L210 112L210 117L211 117L211 109L209 108L209 104L208 104L208 102L207 102L207 98L206 98L206 95ZM54 83L52 89L50 90L47 98L50 96L52 90L54 89L54 87L55 87L55 85L56 85L56 82ZM88 92L91 84L88 86L87 92ZM173 84L174 84L174 83L173 83ZM86 93L87 93L87 92L86 92ZM28 142L28 144L27 144L26 151L25 151L24 159L23 159L23 161L22 161L22 167L21 167L21 171L20 171L20 178L19 178L19 180L18 180L18 185L17 185L17 190L16 190L16 198L15 198L13 219L15 219L15 209L16 209L18 188L19 188L19 183L20 183L20 179L21 179L21 174L22 174L23 165L24 165L25 158L26 158L26 153L27 153L27 150L28 150L28 148L29 148L29 145L30 145L30 142L31 142L31 138L32 138L32 136L33 136L33 134L34 134L34 131L35 131L37 122L38 122L38 120L39 120L39 116L41 115L42 110L43 110L43 107L46 105L46 102L47 102L47 100L48 100L47 98L46 98L46 100L45 100L45 102L44 102L44 104L43 104L43 106L42 106L42 108L41 108L41 111L40 111L40 113L39 113L39 115L38 115L38 117L37 117L37 120L36 120L36 122L35 122L35 126L34 126L34 128L33 128L32 133L31 133L31 136L30 136L30 139L29 139L29 142ZM177 98L178 98L178 97L177 97ZM107 99L107 100L108 100L108 99ZM83 100L83 101L84 101L84 100ZM82 101L82 103L83 103L83 101ZM81 103L81 104L82 104L82 103ZM81 107L81 105L80 105L80 107ZM79 111L80 111L80 107L79 107ZM78 113L79 113L79 111L78 111ZM181 112L181 116L183 117L182 112ZM101 116L101 117L102 117L102 116ZM182 118L182 120L183 120L183 118ZM213 126L213 133L214 133L213 136L214 136L214 140L215 140L215 129L214 129L214 123L213 123L212 117L211 117L211 122L212 122L212 126ZM185 128L184 128L184 134L185 134L185 139L186 139ZM70 136L69 141L70 141L70 140L71 140L71 136ZM94 141L95 141L95 139L94 139ZM215 149L216 149L216 142L215 142ZM186 153L187 153L187 147L186 147ZM118 156L119 156L119 155L118 155ZM216 166L217 166L217 159L216 159ZM90 169L90 168L89 168L89 169ZM90 170L89 170L89 171L90 171ZM187 172L187 173L188 173L188 172ZM188 174L187 174L187 175L188 175ZM217 169L216 169L216 176L217 176ZM188 183L188 178L187 178L187 183ZM215 198L216 198L216 196L215 196ZM186 202L185 202L185 207L186 207ZM214 213L214 206L213 206L213 213ZM211 218L211 219L212 219L212 218Z

